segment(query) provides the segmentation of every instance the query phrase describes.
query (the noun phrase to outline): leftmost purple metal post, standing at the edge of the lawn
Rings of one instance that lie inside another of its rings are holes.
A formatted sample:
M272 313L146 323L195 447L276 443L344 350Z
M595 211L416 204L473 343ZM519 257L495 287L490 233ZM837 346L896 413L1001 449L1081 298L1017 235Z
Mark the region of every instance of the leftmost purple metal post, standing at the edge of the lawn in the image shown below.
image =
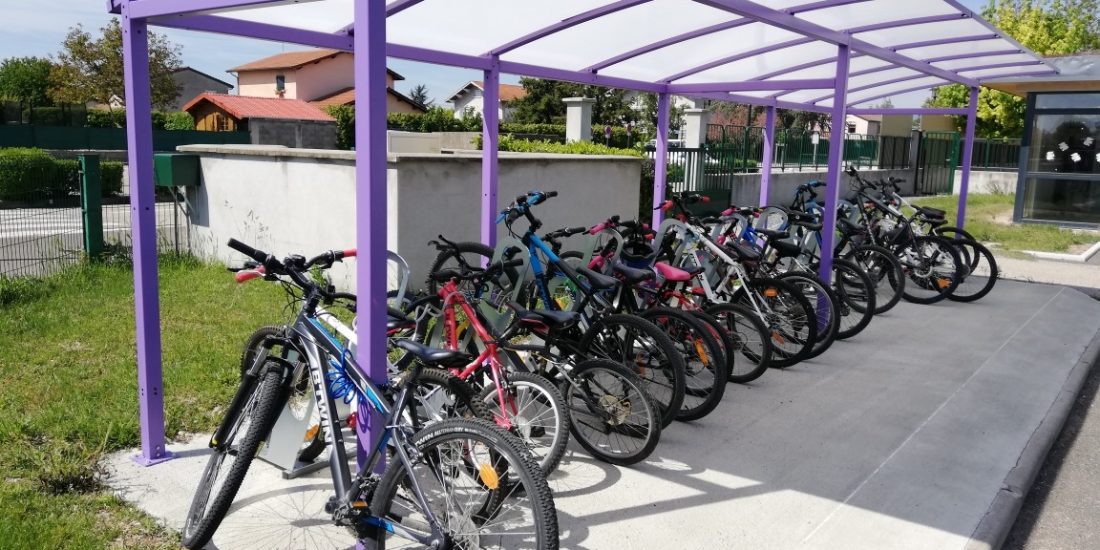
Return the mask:
M134 320L138 332L138 403L141 454L153 465L172 458L164 442L164 376L161 370L161 299L156 278L156 205L153 200L153 119L148 88L148 30L122 4L122 55L125 59L127 151L130 166L130 219L133 223Z

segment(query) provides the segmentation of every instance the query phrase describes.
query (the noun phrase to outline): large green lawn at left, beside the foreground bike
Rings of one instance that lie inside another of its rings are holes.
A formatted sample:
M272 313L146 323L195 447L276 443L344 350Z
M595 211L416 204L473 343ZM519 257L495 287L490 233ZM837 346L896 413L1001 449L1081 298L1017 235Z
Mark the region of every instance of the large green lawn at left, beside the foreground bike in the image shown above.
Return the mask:
M285 321L284 305L275 285L162 262L169 438L215 426L235 389L241 344ZM140 444L133 314L127 267L0 279L0 547L178 548L177 535L99 483L103 453Z

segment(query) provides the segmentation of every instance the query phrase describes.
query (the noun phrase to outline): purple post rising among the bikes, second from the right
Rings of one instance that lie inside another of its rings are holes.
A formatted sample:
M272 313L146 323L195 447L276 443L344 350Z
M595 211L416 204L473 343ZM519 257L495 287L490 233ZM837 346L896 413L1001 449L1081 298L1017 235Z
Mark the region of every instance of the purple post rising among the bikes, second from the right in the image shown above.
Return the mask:
M840 198L840 173L844 161L844 128L848 102L848 46L837 46L836 92L833 96L831 139L828 143L828 176L825 178L825 200L822 201L822 256L820 275L828 283L833 277L833 240L836 237L836 205Z

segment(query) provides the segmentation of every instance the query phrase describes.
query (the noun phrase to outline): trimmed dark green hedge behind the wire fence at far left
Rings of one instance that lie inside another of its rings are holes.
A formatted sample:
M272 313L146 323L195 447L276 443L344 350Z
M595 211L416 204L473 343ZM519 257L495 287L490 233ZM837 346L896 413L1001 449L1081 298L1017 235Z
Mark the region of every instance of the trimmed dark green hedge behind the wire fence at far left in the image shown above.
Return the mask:
M122 163L100 163L99 170L105 197L122 190ZM0 148L0 200L68 195L79 189L79 162L57 160L36 148Z

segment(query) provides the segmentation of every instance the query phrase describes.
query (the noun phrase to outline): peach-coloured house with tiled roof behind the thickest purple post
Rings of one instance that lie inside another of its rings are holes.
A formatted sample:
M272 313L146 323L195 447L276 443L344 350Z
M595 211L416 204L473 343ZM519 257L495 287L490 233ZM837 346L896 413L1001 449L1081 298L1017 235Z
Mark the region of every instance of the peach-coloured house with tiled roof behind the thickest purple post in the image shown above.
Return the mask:
M319 107L354 105L354 56L339 50L286 52L233 67L237 92L261 98L297 99ZM388 112L425 112L427 109L394 89L405 77L386 69Z

